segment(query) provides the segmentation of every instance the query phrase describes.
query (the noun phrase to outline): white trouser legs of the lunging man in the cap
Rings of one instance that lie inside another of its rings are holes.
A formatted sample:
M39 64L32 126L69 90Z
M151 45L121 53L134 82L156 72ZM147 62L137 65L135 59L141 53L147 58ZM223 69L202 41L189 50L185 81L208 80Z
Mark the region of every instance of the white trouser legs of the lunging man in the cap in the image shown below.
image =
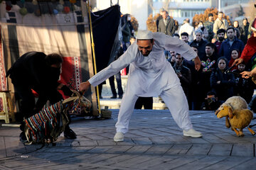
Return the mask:
M181 85L176 85L171 89L162 91L160 94L172 117L182 130L193 128L188 113L188 101ZM125 93L119 109L118 120L115 125L117 132L126 133L129 128L129 119L134 111L134 105L138 96L131 93Z

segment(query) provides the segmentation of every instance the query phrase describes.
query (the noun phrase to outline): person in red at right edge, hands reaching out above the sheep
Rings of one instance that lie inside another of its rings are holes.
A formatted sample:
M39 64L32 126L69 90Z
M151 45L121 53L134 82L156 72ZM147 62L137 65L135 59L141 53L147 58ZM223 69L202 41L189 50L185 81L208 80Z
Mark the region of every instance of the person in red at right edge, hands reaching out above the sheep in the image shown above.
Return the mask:
M240 58L235 60L233 65L237 65L242 62L249 62L253 55L256 53L256 18L252 23L252 36L247 40L247 44L245 45L244 50L242 50L242 55ZM256 67L252 69L250 72L242 72L242 78L249 78L249 77L255 77L256 76Z

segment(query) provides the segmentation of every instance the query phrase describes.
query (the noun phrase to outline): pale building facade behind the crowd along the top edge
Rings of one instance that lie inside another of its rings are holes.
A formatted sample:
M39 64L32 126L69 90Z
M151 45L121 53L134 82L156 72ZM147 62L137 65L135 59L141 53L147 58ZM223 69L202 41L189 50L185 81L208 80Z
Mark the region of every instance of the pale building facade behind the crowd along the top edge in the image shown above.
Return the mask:
M93 0L92 0L93 1ZM146 30L146 20L149 14L159 13L161 8L169 12L170 16L183 23L185 18L203 13L206 8L219 8L220 10L235 18L235 11L238 11L240 4L247 4L250 0L94 0L96 10L102 10L114 4L119 4L121 13L130 13L137 18L139 29ZM220 6L219 6L220 2ZM229 6L234 6L230 8ZM246 5L242 5L246 6Z

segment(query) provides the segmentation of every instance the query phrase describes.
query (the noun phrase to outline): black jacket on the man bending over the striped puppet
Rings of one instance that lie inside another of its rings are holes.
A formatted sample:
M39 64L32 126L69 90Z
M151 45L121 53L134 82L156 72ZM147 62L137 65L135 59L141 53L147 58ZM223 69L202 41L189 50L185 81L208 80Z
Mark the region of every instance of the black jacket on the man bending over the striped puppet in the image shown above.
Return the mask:
M14 85L30 86L31 89L56 89L60 84L60 69L46 64L43 52L27 52L13 64L6 74Z

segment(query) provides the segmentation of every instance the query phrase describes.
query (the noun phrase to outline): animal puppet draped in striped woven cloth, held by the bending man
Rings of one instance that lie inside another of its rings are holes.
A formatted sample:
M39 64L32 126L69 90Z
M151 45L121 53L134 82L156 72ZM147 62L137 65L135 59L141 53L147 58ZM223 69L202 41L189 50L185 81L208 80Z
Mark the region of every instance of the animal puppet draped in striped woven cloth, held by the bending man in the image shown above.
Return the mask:
M32 143L55 142L69 123L68 112L73 112L82 106L86 112L90 111L92 104L78 91L73 96L43 108L36 115L25 120L25 135L27 145Z

